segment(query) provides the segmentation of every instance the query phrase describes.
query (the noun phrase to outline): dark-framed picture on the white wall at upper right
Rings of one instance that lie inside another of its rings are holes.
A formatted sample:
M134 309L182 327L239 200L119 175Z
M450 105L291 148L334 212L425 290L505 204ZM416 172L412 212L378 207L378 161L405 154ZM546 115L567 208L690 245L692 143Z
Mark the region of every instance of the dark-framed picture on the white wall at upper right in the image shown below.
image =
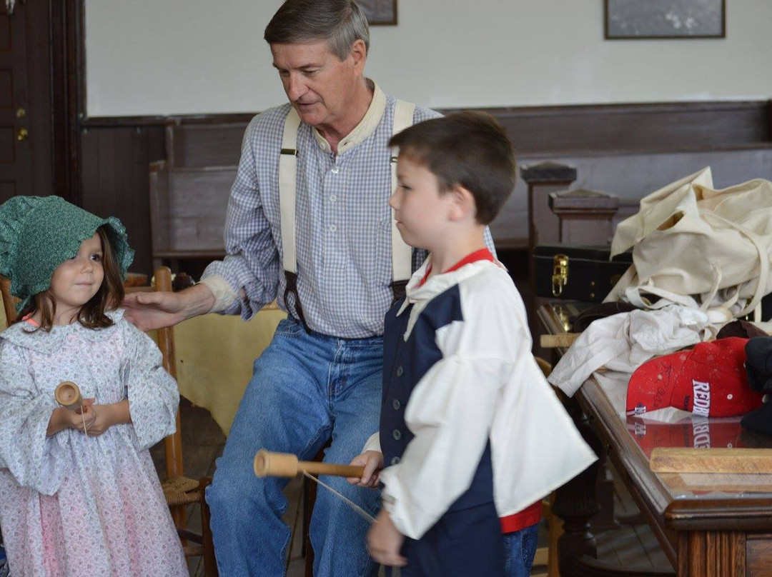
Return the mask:
M604 0L604 39L726 38L726 0Z

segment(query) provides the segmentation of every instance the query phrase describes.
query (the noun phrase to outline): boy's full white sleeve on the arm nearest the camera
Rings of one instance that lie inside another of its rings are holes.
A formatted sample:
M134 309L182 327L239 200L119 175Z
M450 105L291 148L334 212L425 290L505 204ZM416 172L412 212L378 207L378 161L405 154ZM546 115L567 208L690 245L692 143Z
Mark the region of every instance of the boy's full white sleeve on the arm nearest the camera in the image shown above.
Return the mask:
M415 437L381 474L384 507L403 535L421 538L469 488L508 369L501 359L454 354L413 390L405 421Z

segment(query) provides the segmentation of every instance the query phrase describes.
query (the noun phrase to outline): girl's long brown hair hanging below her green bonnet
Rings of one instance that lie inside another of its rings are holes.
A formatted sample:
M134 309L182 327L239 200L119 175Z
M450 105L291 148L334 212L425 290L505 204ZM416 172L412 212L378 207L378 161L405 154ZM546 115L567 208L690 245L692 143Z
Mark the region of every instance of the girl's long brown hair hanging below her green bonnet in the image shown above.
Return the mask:
M117 309L124 302L124 275L120 272L118 259L113 245L110 244L107 226L103 225L97 228L97 235L102 242L104 278L97 294L80 307L77 316L78 322L89 329L101 329L112 325L113 321L106 313ZM54 302L50 289L33 296L29 305L26 305L19 312L15 322L20 322L38 311L40 311L40 326L36 330L50 331L53 326L53 319L56 318L56 302Z

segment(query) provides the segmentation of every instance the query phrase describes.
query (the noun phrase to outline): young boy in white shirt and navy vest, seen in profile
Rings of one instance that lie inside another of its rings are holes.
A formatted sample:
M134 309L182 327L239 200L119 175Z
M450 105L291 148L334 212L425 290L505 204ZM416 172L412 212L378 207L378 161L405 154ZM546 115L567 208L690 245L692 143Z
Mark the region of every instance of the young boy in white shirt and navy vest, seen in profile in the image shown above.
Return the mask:
M404 565L403 577L499 577L499 517L533 511L595 456L533 359L523 302L483 241L515 185L503 129L460 113L389 145L400 150L397 227L431 255L386 315L380 433L350 482L385 485L368 535L376 561ZM507 561L512 575L530 571L522 554Z

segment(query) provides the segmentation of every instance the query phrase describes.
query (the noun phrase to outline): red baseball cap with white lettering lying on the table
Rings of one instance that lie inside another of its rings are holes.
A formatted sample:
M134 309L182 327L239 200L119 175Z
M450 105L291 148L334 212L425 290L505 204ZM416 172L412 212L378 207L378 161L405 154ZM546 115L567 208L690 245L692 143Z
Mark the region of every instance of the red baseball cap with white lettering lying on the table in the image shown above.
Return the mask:
M628 383L628 415L675 407L703 417L735 417L757 409L763 396L748 385L747 341L733 336L700 342L643 363Z

